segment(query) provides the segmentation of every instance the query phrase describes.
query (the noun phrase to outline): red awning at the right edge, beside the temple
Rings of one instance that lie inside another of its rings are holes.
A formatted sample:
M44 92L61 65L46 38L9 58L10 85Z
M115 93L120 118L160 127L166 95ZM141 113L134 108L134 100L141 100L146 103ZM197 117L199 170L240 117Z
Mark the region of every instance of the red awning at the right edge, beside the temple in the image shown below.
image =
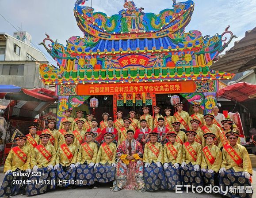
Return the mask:
M231 84L217 92L217 96L237 101L239 103L245 102L246 100L252 98L250 96L253 95L256 95L256 85L246 82Z

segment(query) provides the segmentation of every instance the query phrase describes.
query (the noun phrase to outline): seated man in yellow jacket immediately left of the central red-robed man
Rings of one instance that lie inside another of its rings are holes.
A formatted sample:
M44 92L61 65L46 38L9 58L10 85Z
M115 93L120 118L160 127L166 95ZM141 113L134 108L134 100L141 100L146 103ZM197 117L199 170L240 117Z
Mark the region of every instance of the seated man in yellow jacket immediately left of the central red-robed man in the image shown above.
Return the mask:
M112 187L115 179L115 154L116 145L112 143L114 134L105 133L105 142L100 145L94 165L94 180L96 181L94 188L99 187L99 183L111 182Z

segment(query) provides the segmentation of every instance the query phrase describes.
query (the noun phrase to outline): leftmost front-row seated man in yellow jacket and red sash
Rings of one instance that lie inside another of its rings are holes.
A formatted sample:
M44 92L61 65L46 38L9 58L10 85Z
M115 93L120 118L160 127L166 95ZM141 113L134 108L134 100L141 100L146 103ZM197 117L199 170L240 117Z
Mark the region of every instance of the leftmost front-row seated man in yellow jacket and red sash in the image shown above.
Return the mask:
M11 148L4 163L4 180L0 190L0 197L12 197L16 194L26 194L27 184L15 183L27 180L31 172L30 158L31 149L24 146L27 137L18 135L15 142L18 146ZM26 172L25 172L26 171ZM24 176L26 173L26 176Z

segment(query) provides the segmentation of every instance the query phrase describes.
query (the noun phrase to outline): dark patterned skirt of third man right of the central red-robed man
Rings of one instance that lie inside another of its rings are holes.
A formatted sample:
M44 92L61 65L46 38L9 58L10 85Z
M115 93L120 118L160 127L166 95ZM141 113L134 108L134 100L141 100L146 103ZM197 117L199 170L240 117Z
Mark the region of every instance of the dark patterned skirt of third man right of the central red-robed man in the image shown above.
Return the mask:
M200 171L195 171L194 166L191 163L183 166L180 170L183 185L203 187L203 178L200 175Z

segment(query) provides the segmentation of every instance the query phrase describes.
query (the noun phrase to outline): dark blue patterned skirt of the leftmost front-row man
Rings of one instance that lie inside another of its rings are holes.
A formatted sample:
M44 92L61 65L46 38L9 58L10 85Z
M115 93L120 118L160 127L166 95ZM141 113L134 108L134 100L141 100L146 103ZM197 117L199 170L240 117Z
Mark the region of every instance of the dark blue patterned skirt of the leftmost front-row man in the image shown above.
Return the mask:
M17 169L14 171L16 173L19 172L25 172ZM6 176L4 176L4 180L0 189L0 197L4 196L14 196L16 194L19 194L22 189L25 189L27 184L22 184L23 181L27 180L28 177L24 176L13 176L13 172L9 172ZM18 184L15 184L13 182L17 182ZM26 181L25 181L26 182Z

